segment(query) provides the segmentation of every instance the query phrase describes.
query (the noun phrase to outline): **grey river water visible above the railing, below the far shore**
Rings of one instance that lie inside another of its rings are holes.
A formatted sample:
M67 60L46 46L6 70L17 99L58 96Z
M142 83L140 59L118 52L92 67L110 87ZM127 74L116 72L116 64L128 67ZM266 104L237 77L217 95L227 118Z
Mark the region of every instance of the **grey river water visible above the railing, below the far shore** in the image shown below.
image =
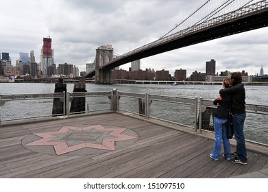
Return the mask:
M1 83L1 94L23 94L23 93L53 93L55 84L45 83ZM203 97L204 99L215 99L221 85L177 85L169 84L86 84L86 90L111 91L117 88L119 91L132 93L151 93L154 95L167 95L173 97ZM267 105L268 86L245 86L246 103ZM67 91L73 92L73 84L67 84Z

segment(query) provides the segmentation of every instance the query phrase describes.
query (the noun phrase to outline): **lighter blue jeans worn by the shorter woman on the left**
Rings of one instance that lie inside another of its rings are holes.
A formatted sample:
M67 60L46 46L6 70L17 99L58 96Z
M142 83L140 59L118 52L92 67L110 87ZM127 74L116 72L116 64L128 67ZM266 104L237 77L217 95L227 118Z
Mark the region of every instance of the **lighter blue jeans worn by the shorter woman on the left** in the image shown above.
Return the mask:
M215 130L215 145L212 152L214 159L219 159L221 153L221 139L223 141L224 156L226 158L231 157L230 141L227 137L227 119L219 119L214 117L214 130Z

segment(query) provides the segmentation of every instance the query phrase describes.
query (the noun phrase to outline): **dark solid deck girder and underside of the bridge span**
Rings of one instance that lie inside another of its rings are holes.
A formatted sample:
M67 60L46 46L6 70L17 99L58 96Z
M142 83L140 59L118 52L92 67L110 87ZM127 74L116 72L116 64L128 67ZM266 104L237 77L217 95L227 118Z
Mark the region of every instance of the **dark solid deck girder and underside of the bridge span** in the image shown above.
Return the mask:
M234 19L226 23L216 23L212 27L189 33L188 35L186 34L184 36L179 36L178 38L172 38L171 40L167 40L154 46L146 47L145 49L133 51L131 54L121 56L108 62L107 64L104 64L102 68L113 69L114 67L119 67L122 64L126 64L134 60L147 58L159 53L180 49L182 47L195 45L197 43L203 43L208 40L222 38L224 36L230 36L253 29L259 29L261 27L267 27L267 25L268 10L264 10L263 12L249 14L248 16ZM95 75L95 71L91 71L90 73L86 74L86 77L93 77L93 75Z

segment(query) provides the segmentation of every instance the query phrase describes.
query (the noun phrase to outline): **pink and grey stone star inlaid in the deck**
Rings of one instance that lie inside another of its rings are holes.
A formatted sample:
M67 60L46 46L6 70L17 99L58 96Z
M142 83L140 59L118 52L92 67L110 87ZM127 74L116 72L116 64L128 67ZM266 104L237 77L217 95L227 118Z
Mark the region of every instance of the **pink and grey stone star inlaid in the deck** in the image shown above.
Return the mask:
M86 128L63 126L56 132L34 133L42 139L26 145L53 146L57 155L83 148L114 151L117 141L137 139L136 136L122 134L125 130L125 128L104 128L101 125L92 125Z

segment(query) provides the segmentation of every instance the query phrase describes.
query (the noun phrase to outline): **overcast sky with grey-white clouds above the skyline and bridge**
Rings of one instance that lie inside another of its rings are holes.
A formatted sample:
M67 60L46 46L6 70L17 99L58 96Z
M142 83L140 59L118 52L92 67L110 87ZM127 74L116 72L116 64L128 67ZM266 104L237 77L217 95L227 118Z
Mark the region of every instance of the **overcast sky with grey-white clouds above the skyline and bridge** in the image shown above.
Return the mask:
M204 3L206 0L1 0L0 52L10 53L13 66L20 52L31 50L40 62L42 38L50 35L57 66L67 62L85 71L97 47L112 45L117 55L132 51L164 36ZM201 19L213 6L192 18ZM195 21L184 25L191 22ZM189 76L193 71L205 72L206 61L214 59L219 73L245 70L255 75L261 66L267 73L267 34L265 27L161 53L142 59L141 69L165 69L171 75L175 69L186 69ZM121 66L129 67L130 63Z

